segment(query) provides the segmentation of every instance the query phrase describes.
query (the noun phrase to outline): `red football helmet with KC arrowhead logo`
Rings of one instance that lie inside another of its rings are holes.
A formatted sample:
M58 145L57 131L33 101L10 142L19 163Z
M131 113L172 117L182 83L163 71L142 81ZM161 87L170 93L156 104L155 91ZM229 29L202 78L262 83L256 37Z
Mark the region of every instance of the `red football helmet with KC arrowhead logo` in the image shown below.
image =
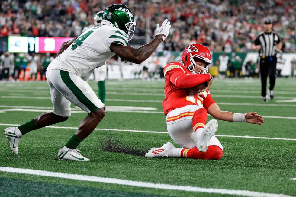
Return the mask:
M207 66L204 68L195 63L196 58L198 58L200 62L204 62ZM195 60L194 60L195 59ZM212 63L211 61L211 53L209 49L201 44L195 43L187 46L182 54L182 62L183 65L191 71L192 74L197 74L194 72L195 66L201 67L198 74L205 74L208 72L208 65ZM201 72L203 70L203 72Z

